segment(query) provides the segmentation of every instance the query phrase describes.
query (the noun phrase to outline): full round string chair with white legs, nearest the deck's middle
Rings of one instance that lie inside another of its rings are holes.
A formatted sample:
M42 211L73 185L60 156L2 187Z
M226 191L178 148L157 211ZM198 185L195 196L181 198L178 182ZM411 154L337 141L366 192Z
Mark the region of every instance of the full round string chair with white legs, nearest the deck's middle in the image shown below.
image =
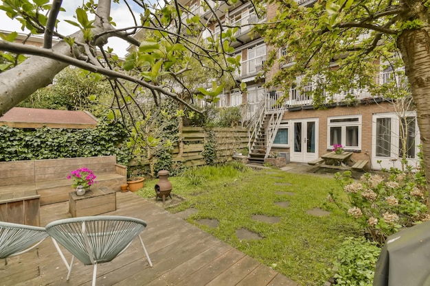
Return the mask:
M67 280L69 280L73 259L76 257L84 265L93 265L93 285L95 285L97 265L109 262L120 255L130 246L135 237L139 237L146 259L152 267L144 241L140 236L145 228L146 222L142 219L103 215L60 219L47 224L46 231L52 237L61 259L69 270ZM67 263L57 241L72 254L70 264Z

